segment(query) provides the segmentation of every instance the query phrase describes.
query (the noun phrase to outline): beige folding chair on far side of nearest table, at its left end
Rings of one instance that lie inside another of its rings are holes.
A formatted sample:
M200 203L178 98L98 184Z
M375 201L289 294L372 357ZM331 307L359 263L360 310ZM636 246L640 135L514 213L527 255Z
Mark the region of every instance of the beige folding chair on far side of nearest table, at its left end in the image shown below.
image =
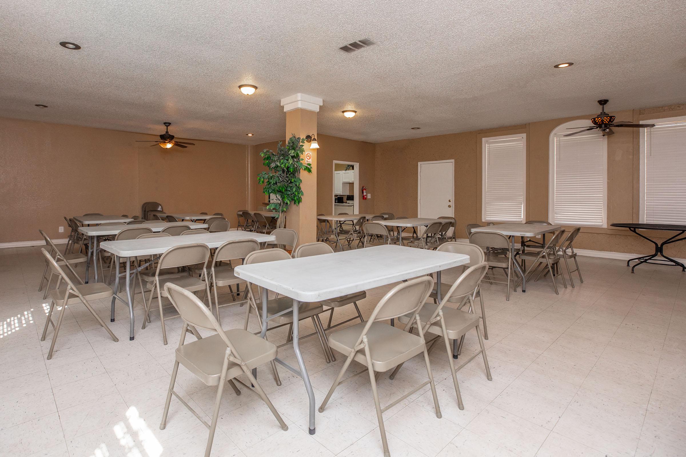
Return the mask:
M287 260L289 258L291 258L291 256L286 251L274 247L272 249L263 249L261 251L251 252L250 254L248 254L248 256L246 256L243 263L245 265L250 265L262 262L274 262L276 260ZM259 325L262 325L262 294L260 287L258 287L256 294L255 291L252 290L253 286L252 284L250 284L250 282L246 283L246 287L248 290L248 301L250 302L250 306L246 307L246 320L243 328L245 330L248 330L248 321L250 319L250 314L255 314L257 316L257 321L259 322ZM276 298L267 301L267 316L276 316L273 319L270 319L270 322L274 323L275 325L273 327L268 328L267 331L269 332L270 330L281 328L284 325L289 325L286 342L283 343L283 345L280 345L279 347L285 346L290 343L293 336L292 325L298 325L298 323L293 322L293 311L287 311L289 308L293 308L293 300L289 297L277 296ZM322 304L318 301L315 301L313 303L300 304L300 308L298 309L298 317L300 318L300 321L303 321L305 319L311 319L312 325L315 330L314 333L305 336L300 336L300 340L302 341L303 339L308 338L309 336L319 336L319 342L322 345L322 350L324 351L324 358L326 358L327 363L331 362L332 360L335 362L333 352L331 352L331 349L329 348L329 345L327 343L327 334L324 333L324 325L322 325L322 321L319 318L319 314L322 314L322 312L324 312L324 306L322 306ZM277 384L279 383L280 381L277 381Z

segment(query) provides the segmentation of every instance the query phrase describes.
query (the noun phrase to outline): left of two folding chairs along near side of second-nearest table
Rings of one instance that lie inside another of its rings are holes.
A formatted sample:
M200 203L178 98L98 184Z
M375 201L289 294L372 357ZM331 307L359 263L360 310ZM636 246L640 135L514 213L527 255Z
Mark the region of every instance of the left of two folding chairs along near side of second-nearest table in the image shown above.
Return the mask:
M160 308L160 321L162 321L162 338L167 344L167 328L165 328L165 320L174 319L171 316L165 317L162 297L167 297L167 292L165 291L165 284L176 284L182 288L185 288L190 292L205 291L205 297L207 298L209 308L212 308L212 300L210 298L209 282L205 282L204 279L207 277L207 261L210 258L210 248L202 243L195 243L192 245L180 245L174 246L160 257L157 262L157 269L155 272L154 281L147 283L147 288L150 289L150 295L145 302L145 317L143 318L143 327L147 324L148 314L150 314L150 305L152 304L152 295L157 291L157 303ZM164 269L168 268L178 268L187 267L194 264L202 264L202 275L200 278L191 275L185 276L174 276L174 277L161 277L161 273Z

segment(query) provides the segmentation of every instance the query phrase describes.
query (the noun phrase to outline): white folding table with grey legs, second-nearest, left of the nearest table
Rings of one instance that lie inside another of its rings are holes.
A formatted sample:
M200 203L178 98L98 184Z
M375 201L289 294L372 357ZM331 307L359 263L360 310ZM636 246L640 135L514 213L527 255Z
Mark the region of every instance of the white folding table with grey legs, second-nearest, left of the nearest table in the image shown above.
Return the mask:
M150 224L152 225L152 224ZM129 339L132 340L134 336L134 317L133 317L133 298L131 296L131 279L133 275L147 267L151 262L147 262L140 267L131 271L132 257L137 256L156 256L164 254L168 249L175 246L190 245L193 243L202 243L210 248L220 247L226 241L230 240L257 240L259 243L266 243L267 241L276 240L276 236L253 232L243 232L242 230L232 230L230 232L214 232L204 233L198 235L178 235L178 236L161 236L160 238L141 238L139 240L119 240L119 241L103 241L100 243L100 249L104 249L114 254L115 263L117 264L117 276L115 279L115 286L113 287L115 295L112 297L112 311L110 314L110 322L115 321L115 301L121 300L129 308ZM117 291L119 291L119 258L126 258L126 301L124 301Z

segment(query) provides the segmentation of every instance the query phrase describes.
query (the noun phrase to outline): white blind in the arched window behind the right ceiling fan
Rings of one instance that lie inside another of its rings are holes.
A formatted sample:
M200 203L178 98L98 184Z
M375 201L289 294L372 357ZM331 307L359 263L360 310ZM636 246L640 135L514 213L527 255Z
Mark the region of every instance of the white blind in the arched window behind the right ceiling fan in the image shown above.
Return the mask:
M551 222L604 227L606 139L597 133L563 135L555 135L551 157Z

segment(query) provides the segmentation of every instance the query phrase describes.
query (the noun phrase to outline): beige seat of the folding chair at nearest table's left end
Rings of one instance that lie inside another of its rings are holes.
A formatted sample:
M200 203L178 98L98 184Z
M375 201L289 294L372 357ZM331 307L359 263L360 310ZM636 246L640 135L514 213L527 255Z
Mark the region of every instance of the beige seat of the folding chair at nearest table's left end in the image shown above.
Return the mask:
M224 330L247 369L263 365L276 357L276 345L242 328ZM226 344L219 334L176 348L176 360L208 386L216 386L222 377ZM226 379L243 373L240 365L228 362Z

